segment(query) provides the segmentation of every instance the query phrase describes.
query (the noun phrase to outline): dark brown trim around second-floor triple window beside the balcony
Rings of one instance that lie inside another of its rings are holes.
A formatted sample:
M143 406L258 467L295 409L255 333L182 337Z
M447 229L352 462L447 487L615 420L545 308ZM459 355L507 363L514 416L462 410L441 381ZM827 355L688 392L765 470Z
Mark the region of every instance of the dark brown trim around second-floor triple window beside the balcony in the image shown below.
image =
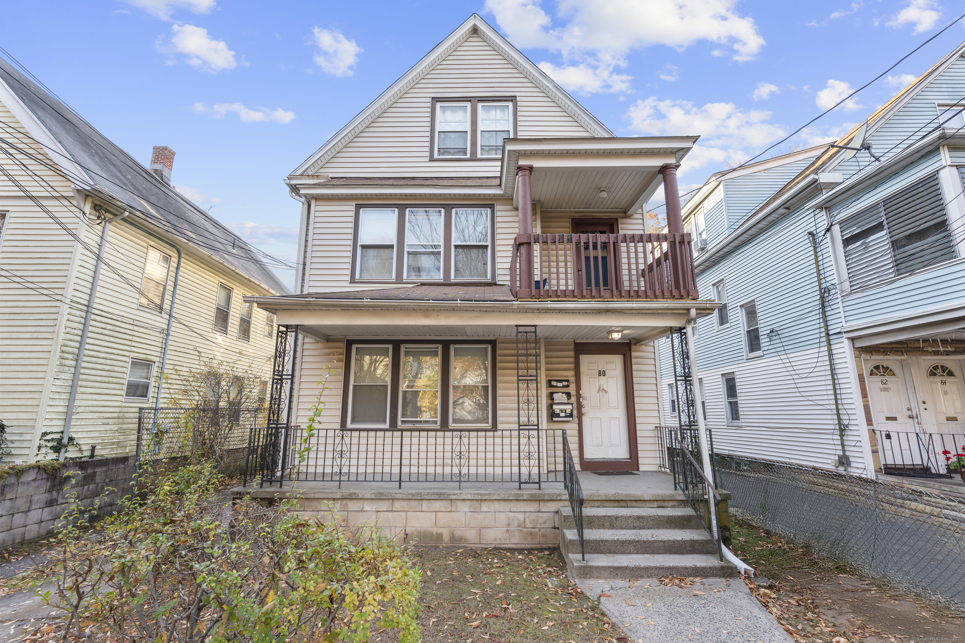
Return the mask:
M359 220L363 209L395 208L396 215L396 279L363 280L358 278ZM405 279L405 209L442 209L442 279ZM489 279L453 279L453 209L489 208ZM495 203L356 203L352 223L352 265L349 283L495 283L496 282L496 204Z

